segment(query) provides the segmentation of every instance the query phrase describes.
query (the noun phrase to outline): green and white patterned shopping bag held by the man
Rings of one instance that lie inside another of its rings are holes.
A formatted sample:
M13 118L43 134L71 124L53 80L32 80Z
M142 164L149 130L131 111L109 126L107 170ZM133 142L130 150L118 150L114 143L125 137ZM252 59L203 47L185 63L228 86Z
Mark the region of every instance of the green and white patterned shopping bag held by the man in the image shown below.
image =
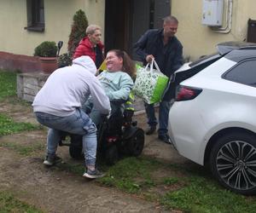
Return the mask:
M169 78L160 72L159 66L153 60L145 67L138 66L133 92L146 103L154 104L162 100L168 81Z

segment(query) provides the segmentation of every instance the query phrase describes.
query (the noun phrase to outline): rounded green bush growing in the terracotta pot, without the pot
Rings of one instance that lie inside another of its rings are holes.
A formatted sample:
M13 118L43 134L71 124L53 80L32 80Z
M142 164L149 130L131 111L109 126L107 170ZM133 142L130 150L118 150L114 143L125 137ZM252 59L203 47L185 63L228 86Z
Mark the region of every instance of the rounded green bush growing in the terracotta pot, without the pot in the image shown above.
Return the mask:
M35 48L34 55L40 57L56 57L57 49L55 42L45 41Z

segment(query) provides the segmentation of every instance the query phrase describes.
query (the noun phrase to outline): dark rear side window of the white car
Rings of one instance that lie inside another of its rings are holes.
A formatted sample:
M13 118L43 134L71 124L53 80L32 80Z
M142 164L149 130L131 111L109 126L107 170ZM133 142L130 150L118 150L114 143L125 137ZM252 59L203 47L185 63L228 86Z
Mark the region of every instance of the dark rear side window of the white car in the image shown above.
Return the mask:
M256 59L242 61L224 73L223 78L256 87Z

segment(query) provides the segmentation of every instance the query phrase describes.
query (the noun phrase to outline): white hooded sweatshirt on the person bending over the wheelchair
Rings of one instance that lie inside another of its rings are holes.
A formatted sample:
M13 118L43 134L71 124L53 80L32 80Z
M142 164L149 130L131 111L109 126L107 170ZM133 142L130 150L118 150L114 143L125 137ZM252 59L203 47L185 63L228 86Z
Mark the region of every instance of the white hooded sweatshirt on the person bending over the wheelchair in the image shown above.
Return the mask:
M66 117L91 95L96 109L108 114L111 110L108 96L95 74L96 66L89 56L81 56L73 60L72 66L55 70L36 95L33 111Z

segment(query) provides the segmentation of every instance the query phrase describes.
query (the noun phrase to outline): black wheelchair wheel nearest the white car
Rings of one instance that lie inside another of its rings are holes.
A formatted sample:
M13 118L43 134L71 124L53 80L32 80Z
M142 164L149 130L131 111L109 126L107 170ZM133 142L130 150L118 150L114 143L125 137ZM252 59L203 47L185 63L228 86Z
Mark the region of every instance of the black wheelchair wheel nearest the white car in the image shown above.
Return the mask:
M143 152L144 147L144 131L138 129L127 141L127 148L131 156L139 156Z

